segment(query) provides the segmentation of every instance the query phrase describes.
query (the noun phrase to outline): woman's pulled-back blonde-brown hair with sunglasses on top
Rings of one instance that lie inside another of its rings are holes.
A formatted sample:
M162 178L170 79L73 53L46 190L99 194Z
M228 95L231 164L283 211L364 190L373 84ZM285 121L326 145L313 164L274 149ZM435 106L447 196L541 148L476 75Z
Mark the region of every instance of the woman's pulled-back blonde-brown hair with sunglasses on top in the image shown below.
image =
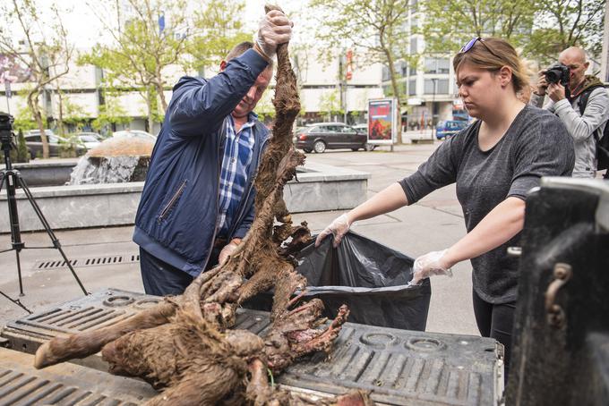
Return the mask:
M499 72L503 66L511 69L511 82L518 93L529 85L528 69L520 60L516 49L501 38L481 38L466 52L459 52L452 60L456 72L464 63L471 63L478 69Z

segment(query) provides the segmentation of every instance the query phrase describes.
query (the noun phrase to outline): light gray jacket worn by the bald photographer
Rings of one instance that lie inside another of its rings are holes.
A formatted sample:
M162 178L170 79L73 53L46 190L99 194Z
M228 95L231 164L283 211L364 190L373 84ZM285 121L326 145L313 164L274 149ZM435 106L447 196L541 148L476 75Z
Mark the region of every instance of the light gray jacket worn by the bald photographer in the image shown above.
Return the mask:
M544 96L535 93L531 95L530 104L541 107L544 104ZM556 114L567 127L575 146L574 178L594 178L596 176L596 141L593 137L594 131L605 129L609 119L609 94L606 89L594 89L588 98L588 105L584 115L579 114L579 97L575 97L571 103L566 98L554 103L550 100L544 108Z

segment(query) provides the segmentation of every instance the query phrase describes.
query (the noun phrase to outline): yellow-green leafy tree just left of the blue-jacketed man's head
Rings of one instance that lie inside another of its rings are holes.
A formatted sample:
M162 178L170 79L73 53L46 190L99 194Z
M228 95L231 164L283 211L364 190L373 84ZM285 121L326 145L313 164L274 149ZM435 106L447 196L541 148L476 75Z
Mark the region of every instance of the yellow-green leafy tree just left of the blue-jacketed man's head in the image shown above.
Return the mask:
M104 89L138 91L146 103L151 129L167 110L164 71L183 62L189 38L189 10L185 0L127 0L127 4L131 10L128 15L121 14L124 7L118 2L109 13L99 10L99 4L90 4L113 43L96 45L81 56L79 63L103 69ZM102 15L115 15L116 21L104 20ZM166 17L170 28L162 28L159 22Z

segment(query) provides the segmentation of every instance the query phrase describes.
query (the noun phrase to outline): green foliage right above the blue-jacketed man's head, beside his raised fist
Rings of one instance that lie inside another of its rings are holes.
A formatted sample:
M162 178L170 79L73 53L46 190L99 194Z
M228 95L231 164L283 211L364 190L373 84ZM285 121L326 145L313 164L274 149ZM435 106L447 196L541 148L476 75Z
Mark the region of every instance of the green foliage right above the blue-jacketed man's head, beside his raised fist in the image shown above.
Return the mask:
M244 1L210 0L202 11L194 13L193 38L188 44L192 60L188 66L197 71L218 67L237 44L252 41L252 33L244 31Z

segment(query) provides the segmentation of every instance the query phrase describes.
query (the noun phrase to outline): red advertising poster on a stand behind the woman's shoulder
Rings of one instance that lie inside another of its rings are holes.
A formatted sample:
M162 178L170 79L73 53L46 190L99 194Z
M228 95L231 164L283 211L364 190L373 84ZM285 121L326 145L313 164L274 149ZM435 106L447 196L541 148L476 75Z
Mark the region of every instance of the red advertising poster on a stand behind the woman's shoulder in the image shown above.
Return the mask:
M368 142L370 144L393 144L396 140L395 98L368 100Z

